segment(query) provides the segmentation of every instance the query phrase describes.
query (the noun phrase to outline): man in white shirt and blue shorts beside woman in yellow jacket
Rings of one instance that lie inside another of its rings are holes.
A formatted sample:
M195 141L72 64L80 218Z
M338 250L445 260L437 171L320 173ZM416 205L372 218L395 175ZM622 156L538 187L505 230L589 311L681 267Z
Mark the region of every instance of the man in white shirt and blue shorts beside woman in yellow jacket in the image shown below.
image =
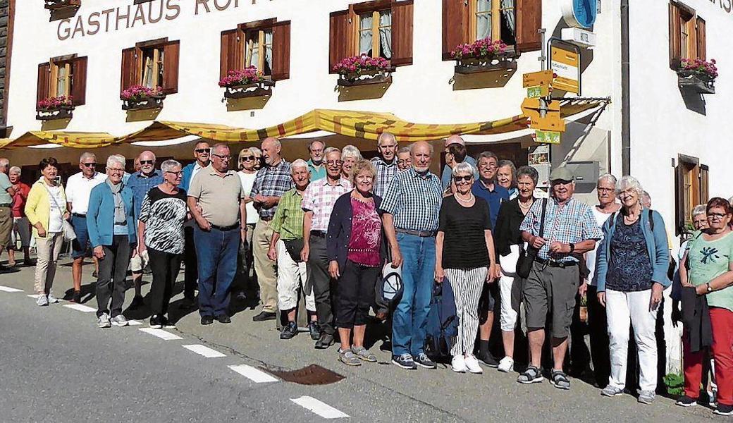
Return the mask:
M89 231L86 229L86 210L89 208L89 196L92 188L103 183L107 175L97 172L97 156L93 152L83 152L79 157L79 170L66 181L66 202L71 212L71 226L74 227L76 239L71 243L71 257L73 264L71 277L74 283L72 301L81 302L81 273L84 266L84 257L89 248ZM95 265L97 258L93 257ZM98 272L97 272L98 273Z

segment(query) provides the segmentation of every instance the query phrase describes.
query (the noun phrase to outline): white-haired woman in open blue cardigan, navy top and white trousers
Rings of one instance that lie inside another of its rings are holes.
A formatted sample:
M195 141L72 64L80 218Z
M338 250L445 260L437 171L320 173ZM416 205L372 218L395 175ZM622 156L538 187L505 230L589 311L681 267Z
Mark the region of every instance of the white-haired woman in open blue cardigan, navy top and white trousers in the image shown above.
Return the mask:
M603 224L595 271L611 355L611 376L602 394L614 397L624 391L630 323L641 369L638 402L651 404L657 388L657 307L670 284L669 247L662 216L641 205L643 193L635 177L622 177L616 184L622 207Z

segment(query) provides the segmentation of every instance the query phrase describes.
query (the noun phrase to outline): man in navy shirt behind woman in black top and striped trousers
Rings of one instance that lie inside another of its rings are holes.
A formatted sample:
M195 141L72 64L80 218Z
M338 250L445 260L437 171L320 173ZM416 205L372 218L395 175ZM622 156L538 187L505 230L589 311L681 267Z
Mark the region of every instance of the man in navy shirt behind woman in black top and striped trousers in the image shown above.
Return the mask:
M490 151L479 155L479 179L474 183L471 192L475 196L485 199L489 205L489 216L492 227L496 227L496 218L499 215L501 203L509 201L509 191L496 181L498 158ZM494 308L499 304L498 284L485 284L479 300L479 355L482 363L490 367L497 367L498 361L489 352L489 339L494 325Z

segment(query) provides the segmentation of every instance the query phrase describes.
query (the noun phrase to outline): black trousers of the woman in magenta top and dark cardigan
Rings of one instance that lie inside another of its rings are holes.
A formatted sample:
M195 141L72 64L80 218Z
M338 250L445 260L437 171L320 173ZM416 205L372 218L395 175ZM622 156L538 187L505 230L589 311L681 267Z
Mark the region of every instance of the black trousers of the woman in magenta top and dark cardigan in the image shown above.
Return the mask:
M378 267L358 265L346 260L339 278L339 294L336 297L336 323L339 328L353 328L367 324L369 306L374 297L375 279L381 270Z

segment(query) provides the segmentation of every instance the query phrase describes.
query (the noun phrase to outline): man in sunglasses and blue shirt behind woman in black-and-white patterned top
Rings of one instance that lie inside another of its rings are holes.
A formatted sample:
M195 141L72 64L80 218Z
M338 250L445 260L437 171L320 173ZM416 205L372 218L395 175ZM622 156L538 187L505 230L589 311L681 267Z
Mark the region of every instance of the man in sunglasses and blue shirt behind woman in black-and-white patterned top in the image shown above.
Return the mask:
M140 170L130 175L126 185L133 191L133 212L135 213L135 222L140 218L140 208L145 199L145 194L157 185L163 183L163 173L155 169L155 153L152 151L141 152L138 156L140 161ZM130 303L130 309L136 309L143 304L140 292L142 284L142 271L148 265L147 250L143 250L140 254L138 249L133 249L133 257L130 259L130 268L133 271L133 285L135 285L135 297Z

